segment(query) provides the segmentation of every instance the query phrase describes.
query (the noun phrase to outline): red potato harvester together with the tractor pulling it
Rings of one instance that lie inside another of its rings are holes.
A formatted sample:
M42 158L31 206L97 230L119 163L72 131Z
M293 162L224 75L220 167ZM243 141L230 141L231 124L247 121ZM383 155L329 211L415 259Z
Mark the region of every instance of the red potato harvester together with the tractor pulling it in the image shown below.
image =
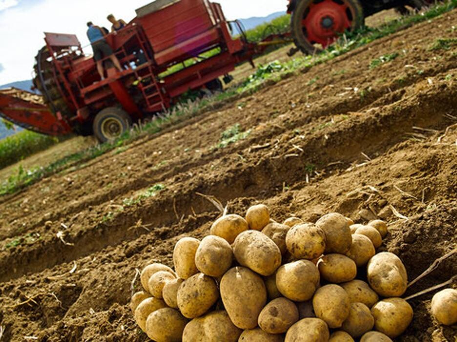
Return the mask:
M34 85L44 104L0 90L0 115L19 126L52 135L95 134L100 141L121 136L132 123L166 108L189 89L222 89L235 65L249 61L271 43L291 41L305 53L333 43L384 9L421 8L433 0L289 0L291 32L249 43L242 25L233 38L221 6L208 0L156 0L106 41L124 65L105 61L101 81L94 59L75 35L45 33L46 45L34 67ZM279 39L278 38L283 38ZM286 39L284 39L286 38ZM293 53L293 49L291 50Z

